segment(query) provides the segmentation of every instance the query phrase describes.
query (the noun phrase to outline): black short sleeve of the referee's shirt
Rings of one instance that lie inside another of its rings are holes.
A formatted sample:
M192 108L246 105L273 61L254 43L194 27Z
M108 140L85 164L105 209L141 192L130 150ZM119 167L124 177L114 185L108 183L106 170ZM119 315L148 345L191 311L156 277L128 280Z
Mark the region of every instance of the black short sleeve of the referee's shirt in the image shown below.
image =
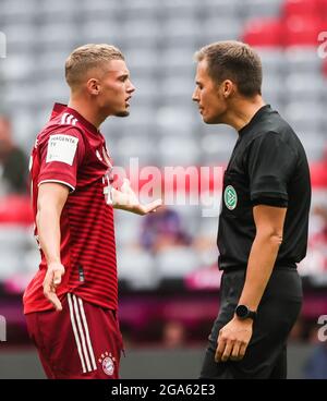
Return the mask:
M267 132L249 145L247 172L253 205L287 207L288 182L296 155L277 133Z

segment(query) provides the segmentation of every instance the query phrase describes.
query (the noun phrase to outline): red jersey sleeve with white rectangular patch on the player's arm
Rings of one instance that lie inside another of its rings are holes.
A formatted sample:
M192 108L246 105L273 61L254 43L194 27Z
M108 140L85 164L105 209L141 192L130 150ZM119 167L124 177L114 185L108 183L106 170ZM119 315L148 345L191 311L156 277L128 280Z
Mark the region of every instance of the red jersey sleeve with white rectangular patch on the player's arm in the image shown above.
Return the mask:
M58 129L39 148L40 169L37 184L58 182L74 191L77 169L85 156L82 133L70 127Z

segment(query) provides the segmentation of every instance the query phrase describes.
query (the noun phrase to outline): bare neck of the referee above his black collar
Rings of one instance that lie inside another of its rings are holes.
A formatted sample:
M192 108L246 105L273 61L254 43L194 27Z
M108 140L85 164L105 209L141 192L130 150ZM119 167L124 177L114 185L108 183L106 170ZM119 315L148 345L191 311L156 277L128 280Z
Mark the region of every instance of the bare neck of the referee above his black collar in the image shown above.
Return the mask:
M262 96L256 96L253 99L239 98L235 100L234 107L226 113L225 123L240 131L250 123L254 114L265 105Z

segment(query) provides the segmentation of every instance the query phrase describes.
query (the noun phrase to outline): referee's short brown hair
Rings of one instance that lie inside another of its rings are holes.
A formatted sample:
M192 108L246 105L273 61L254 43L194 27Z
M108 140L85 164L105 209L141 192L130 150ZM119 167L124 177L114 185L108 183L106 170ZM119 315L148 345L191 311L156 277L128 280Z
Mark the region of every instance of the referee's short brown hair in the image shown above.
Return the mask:
M208 74L217 84L231 80L245 97L262 94L262 61L249 45L235 40L217 41L199 49L195 59L207 61Z

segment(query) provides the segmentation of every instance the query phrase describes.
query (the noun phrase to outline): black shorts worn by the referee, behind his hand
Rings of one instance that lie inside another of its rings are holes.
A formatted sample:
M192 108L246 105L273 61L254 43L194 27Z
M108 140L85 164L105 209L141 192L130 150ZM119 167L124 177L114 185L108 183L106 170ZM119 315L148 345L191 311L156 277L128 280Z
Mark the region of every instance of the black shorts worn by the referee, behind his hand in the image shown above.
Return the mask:
M244 270L225 271L222 275L221 306L209 336L201 379L287 378L287 338L302 305L301 278L293 268L272 271L243 360L215 362L219 330L232 319L244 280Z

